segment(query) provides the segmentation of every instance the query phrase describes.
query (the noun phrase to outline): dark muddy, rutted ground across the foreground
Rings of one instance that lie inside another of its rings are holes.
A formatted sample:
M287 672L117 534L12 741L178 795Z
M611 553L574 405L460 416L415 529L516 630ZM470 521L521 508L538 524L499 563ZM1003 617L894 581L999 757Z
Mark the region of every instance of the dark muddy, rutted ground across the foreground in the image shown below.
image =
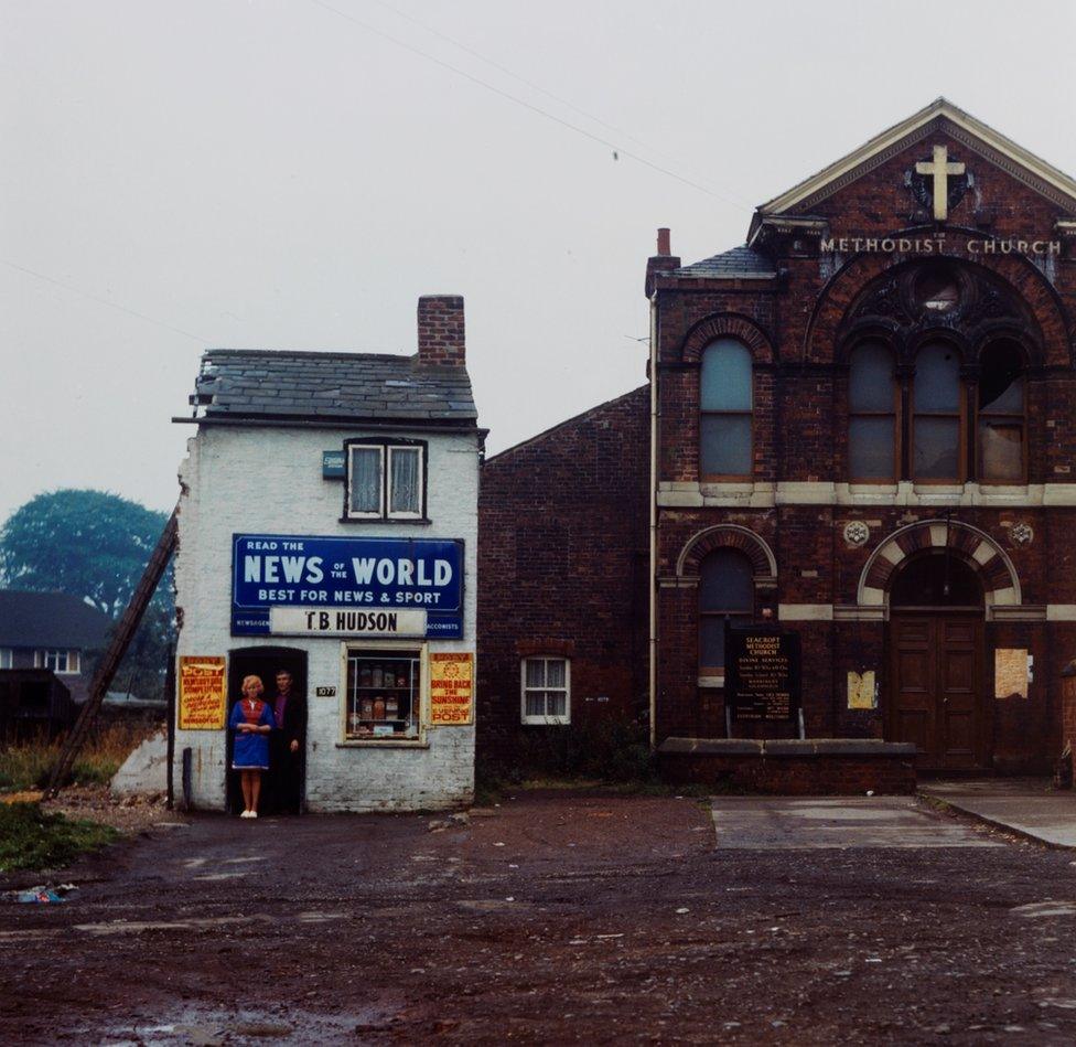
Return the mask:
M672 798L439 821L201 815L85 861L0 907L0 1041L1076 1038L1070 852L718 850Z

